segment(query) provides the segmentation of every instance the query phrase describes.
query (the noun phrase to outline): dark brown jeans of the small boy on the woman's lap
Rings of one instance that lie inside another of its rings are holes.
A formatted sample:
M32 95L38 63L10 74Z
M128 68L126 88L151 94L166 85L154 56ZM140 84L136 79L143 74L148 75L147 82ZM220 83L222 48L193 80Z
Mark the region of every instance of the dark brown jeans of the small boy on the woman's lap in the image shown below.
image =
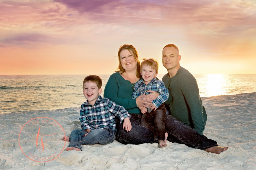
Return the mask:
M161 104L155 111L142 114L141 125L147 127L154 132L154 140L164 140L165 138L165 114L166 108L164 104Z

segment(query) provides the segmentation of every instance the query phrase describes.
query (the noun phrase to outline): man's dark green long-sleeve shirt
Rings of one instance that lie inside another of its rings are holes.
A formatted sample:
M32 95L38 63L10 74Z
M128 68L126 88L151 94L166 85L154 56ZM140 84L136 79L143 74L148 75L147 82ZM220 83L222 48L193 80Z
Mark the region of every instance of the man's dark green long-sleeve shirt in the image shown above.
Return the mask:
M169 105L171 115L202 135L207 115L195 77L180 67L175 76L169 78L167 73L162 81L170 90L169 99L165 104Z

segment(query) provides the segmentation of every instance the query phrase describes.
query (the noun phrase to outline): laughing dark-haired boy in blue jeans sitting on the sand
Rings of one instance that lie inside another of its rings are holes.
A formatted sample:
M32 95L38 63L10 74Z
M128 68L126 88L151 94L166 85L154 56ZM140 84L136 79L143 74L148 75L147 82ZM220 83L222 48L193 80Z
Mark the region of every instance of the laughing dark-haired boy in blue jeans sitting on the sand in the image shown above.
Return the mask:
M115 116L120 118L120 123L124 120L123 128L125 127L127 132L131 130L132 125L129 120L131 116L122 106L100 96L101 85L101 78L97 75L84 78L83 94L87 101L81 105L80 110L79 120L82 129L73 130L70 138L63 137L63 140L70 141L66 150L81 151L82 144L112 143L116 133Z

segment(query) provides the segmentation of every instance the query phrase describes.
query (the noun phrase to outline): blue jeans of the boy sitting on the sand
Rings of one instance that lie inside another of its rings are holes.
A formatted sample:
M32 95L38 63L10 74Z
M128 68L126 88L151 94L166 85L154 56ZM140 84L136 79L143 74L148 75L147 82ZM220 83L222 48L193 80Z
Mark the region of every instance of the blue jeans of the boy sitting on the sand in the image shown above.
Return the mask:
M87 134L86 130L75 129L70 134L69 147L75 147L82 150L81 145L93 145L99 143L106 145L112 143L115 140L115 132L109 128L105 129L93 129Z

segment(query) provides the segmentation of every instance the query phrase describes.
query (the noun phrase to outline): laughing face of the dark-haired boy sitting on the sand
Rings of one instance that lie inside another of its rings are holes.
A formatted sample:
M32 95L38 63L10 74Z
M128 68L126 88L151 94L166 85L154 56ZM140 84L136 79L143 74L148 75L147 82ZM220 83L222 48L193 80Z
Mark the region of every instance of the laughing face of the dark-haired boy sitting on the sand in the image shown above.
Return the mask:
M89 104L94 105L95 101L101 94L101 88L99 89L94 82L85 82L83 88L83 95L88 100Z

